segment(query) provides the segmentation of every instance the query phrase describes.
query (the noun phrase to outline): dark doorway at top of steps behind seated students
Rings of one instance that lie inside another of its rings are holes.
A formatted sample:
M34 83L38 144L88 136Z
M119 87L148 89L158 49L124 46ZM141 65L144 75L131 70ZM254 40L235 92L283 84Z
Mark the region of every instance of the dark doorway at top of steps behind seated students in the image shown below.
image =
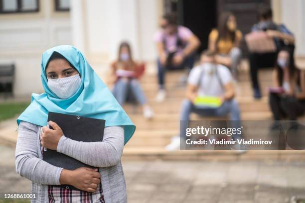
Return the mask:
M164 0L165 12L177 12L179 23L199 37L199 51L207 48L208 35L217 26L217 17L221 12L233 12L238 29L245 35L258 21L258 9L262 5L270 6L270 0ZM244 41L241 46L244 56L247 55Z

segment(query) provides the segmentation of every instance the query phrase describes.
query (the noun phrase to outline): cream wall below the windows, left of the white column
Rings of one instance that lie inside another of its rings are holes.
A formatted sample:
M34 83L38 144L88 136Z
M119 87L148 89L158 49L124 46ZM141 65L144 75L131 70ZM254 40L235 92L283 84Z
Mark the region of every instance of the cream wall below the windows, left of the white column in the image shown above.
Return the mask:
M53 0L40 0L37 13L0 14L0 63L16 65L16 96L43 92L42 52L72 41L69 12L57 13L53 9Z

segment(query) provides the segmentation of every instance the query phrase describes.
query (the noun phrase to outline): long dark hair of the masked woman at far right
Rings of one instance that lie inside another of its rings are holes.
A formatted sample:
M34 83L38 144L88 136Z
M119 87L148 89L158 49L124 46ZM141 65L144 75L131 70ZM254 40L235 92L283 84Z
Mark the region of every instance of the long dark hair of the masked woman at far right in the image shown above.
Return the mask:
M289 80L295 80L296 77L298 77L297 78L297 84L300 85L300 77L299 77L300 71L296 67L293 51L290 48L288 48L288 47L283 47L283 48L281 48L279 50L276 59L278 59L279 53L281 51L287 51L289 53L289 65L288 65L288 68L289 68ZM277 75L278 75L277 80L278 80L280 86L282 86L283 85L283 74L284 73L283 73L283 69L279 66L277 60L275 62L275 69L276 69Z

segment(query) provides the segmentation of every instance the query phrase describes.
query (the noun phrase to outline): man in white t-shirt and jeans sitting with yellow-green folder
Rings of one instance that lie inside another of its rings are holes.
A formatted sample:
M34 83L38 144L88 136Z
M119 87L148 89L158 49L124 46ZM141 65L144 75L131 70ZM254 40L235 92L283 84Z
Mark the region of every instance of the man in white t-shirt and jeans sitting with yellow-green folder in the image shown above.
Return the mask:
M234 99L235 91L230 70L215 63L215 53L203 51L200 65L194 67L188 76L186 97L181 105L180 120L188 121L192 112L201 116L226 116L235 120L240 126L239 105ZM198 97L214 97L219 99L218 107L197 104ZM235 137L238 139L239 137ZM175 150L180 146L179 136L174 137L166 146L167 150Z

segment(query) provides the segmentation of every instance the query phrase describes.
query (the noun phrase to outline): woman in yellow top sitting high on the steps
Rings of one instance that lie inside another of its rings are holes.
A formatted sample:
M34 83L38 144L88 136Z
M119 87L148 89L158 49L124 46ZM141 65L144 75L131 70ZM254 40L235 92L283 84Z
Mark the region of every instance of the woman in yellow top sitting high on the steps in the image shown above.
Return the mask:
M237 29L236 17L231 12L223 12L218 27L209 34L209 50L216 52L216 62L230 67L234 79L237 79L237 66L242 52L239 48L243 34Z

